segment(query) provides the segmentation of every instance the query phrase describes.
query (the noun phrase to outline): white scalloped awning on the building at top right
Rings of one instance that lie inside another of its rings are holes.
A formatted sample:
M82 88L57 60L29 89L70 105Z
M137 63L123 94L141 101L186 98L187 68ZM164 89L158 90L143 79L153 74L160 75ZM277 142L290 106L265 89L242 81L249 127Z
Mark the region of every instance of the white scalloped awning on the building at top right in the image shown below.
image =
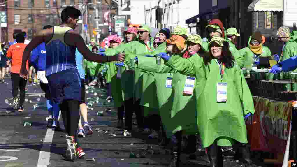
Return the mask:
M249 4L248 12L257 11L283 11L283 0L257 0Z

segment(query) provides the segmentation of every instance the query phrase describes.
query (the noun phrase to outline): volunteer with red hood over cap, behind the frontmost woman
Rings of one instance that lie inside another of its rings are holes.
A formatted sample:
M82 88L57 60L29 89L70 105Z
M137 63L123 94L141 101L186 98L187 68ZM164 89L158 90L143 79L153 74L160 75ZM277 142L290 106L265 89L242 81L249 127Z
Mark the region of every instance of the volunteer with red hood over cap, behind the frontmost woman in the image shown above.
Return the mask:
M207 37L203 38L205 40L203 40L202 42L202 48L204 49L204 51L206 51L207 53L208 51L208 41L211 40L211 38L215 37L215 36L219 36L224 38L225 40L226 38L226 33L225 33L225 28L223 26L222 21L220 21L219 19L212 19L208 25L205 27L206 30L206 34ZM239 67L243 68L244 66L244 58L238 54L238 52L236 51L231 51L235 62L239 65Z

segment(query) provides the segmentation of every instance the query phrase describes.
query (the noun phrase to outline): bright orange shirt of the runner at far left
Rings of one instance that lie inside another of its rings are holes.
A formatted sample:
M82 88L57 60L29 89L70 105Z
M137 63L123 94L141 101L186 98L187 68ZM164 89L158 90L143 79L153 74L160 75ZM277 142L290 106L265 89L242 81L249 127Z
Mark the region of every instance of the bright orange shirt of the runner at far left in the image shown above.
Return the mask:
M11 70L10 70L11 73L16 73L16 74L20 73L20 67L22 66L22 61L23 61L23 52L26 46L27 45L24 43L16 43L9 47L6 56L12 59ZM26 63L26 68L28 71L29 70L28 61Z

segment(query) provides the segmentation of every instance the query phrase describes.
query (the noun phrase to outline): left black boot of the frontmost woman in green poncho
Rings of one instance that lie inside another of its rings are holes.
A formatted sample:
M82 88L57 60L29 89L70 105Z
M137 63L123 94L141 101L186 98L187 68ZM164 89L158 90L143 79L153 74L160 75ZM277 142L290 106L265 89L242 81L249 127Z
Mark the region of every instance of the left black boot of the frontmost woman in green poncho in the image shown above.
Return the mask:
M222 166L223 159L222 159L222 150L217 145L217 142L214 141L213 144L211 144L209 147L207 147L207 155L208 159L211 163L211 167L218 167Z

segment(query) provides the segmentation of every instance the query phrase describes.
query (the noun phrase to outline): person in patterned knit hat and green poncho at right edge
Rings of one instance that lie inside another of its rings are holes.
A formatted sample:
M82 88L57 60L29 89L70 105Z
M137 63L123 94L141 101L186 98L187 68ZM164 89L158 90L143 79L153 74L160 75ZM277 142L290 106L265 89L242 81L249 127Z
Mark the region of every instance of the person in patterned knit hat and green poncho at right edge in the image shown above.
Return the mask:
M290 33L288 27L282 26L277 30L277 37L280 42L285 42L280 61L297 55L297 31ZM297 70L294 71L296 72Z

